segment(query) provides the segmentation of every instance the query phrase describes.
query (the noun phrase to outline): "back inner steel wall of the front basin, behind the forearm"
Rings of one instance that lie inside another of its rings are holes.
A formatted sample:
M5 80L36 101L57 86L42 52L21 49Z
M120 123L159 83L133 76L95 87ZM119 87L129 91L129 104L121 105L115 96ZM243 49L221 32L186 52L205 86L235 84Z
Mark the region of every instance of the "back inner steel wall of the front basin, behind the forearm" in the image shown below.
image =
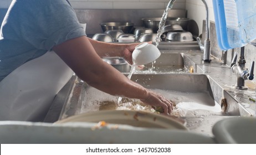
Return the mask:
M209 92L213 98L207 75L204 74L134 74L131 80L149 89L181 92Z

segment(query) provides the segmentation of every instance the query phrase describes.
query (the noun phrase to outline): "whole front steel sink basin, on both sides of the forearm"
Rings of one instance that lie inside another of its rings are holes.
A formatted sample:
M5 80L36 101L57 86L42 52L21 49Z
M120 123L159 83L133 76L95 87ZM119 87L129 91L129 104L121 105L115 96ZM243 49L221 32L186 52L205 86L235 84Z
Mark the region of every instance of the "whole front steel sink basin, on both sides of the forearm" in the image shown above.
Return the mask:
M222 116L221 106L214 100L212 86L204 74L134 74L131 80L156 91L176 104L173 116ZM155 112L139 100L124 98L117 105L111 96L83 82L80 95L72 96L63 107L60 119L99 110L137 110ZM75 106L72 106L75 105Z

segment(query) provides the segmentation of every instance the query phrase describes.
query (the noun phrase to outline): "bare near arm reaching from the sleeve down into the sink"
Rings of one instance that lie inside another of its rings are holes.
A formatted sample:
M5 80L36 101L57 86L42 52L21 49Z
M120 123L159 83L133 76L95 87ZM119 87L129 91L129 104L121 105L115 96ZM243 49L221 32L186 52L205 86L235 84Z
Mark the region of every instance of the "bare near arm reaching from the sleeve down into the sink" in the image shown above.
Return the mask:
M106 46L104 48L107 50ZM151 106L162 106L166 114L171 112L172 103L170 101L127 79L125 75L105 63L87 37L68 40L54 46L53 50L81 80L96 89L111 95L140 99Z

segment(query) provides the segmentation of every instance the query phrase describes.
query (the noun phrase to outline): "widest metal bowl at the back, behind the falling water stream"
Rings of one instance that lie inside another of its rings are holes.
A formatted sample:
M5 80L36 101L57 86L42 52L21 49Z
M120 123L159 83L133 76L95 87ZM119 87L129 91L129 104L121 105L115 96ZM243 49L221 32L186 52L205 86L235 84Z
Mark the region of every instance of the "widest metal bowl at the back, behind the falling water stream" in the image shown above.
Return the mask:
M141 20L146 28L152 28L153 32L156 33L161 18L142 18ZM167 18L165 24L178 24L181 25L182 29L187 30L187 24L189 21L189 18Z

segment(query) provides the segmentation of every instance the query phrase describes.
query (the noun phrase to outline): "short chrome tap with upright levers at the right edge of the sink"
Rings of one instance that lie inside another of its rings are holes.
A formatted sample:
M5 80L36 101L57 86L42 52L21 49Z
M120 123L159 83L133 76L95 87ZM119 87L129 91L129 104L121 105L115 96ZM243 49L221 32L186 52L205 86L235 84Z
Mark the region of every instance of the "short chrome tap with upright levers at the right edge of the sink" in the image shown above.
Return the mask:
M247 86L244 85L245 80L253 80L253 70L254 70L254 61L252 61L252 65L250 66L250 70L245 69L245 59L244 59L244 46L240 48L240 56L237 62L237 53L235 53L232 63L231 70L237 76L235 82L235 88L239 90L248 89Z

